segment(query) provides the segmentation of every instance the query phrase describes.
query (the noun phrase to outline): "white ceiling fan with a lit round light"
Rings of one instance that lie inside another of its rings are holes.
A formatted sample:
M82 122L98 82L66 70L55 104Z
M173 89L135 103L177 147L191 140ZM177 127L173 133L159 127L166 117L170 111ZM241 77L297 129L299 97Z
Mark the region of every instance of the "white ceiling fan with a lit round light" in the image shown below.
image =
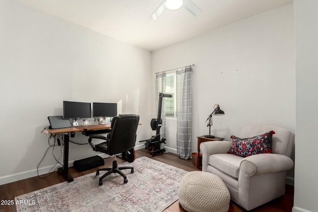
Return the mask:
M191 0L163 0L159 7L156 9L154 14L150 16L150 19L157 20L159 15L165 10L165 8L169 10L177 10L180 7L186 8L189 12L194 14L195 16L201 14L202 10L195 5Z

